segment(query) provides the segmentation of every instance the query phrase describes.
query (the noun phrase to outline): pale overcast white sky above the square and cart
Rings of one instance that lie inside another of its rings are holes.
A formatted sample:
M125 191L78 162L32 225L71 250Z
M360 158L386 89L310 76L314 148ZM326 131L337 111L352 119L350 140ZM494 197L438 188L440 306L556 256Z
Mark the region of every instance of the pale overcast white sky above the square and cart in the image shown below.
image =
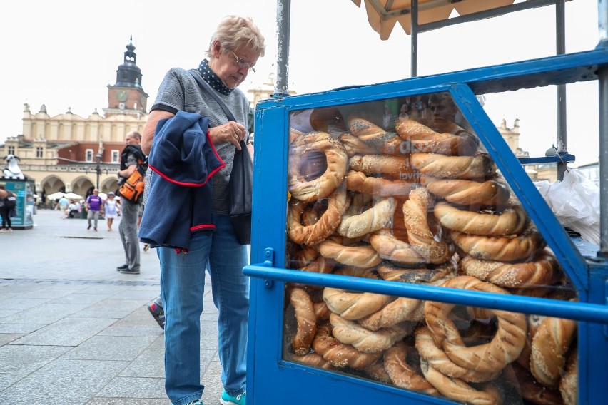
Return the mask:
M410 77L410 36L395 26L381 41L365 6L350 0L293 0L289 87L298 94ZM266 55L240 88L258 87L276 72L276 1L24 0L11 3L0 24L0 143L22 132L23 104L45 104L50 116L68 108L87 117L108 104L129 37L136 46L142 87L156 98L171 67L198 66L217 22L251 16L265 34ZM554 6L461 24L419 36L419 76L522 61L555 54ZM597 1L566 3L566 51L598 42ZM491 94L485 109L500 125L520 119L520 146L544 155L555 139L555 88ZM597 161L597 82L569 85L569 152L574 165ZM574 142L574 140L576 140Z

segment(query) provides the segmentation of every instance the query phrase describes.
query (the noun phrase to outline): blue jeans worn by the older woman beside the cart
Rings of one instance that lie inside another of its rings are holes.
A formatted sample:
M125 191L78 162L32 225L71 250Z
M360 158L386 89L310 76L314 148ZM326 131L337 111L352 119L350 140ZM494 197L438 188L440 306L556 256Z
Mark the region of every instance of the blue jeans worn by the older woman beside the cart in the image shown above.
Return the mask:
M249 277L247 247L239 245L230 217L213 215L215 232L193 235L188 253L159 247L161 296L165 306L165 389L176 405L200 399L201 313L205 267L218 308L218 352L222 384L230 395L245 391Z

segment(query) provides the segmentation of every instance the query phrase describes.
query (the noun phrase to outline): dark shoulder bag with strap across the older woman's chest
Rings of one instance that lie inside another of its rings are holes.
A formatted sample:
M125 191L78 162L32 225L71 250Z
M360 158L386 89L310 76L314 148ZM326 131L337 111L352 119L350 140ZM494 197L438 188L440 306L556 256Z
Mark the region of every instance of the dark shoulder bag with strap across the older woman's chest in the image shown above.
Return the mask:
M198 74L198 71L191 69L190 73L198 83L198 86L201 86L203 91L207 91L207 93L216 99L224 113L226 113L228 121L236 122L228 106L218 98L211 86ZM245 140L240 141L240 150L234 150L234 161L232 171L230 172L230 180L228 180L228 188L230 188L230 221L232 222L234 233L240 245L250 245L253 160L251 160Z

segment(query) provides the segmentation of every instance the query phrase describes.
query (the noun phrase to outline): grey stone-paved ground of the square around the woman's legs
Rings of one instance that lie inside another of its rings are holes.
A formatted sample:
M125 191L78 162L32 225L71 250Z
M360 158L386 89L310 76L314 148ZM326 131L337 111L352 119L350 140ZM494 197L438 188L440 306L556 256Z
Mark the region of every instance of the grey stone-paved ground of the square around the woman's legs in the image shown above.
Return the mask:
M0 404L167 405L158 257L123 275L118 223L38 210L30 230L0 233ZM219 404L217 312L206 287L201 316L203 400Z

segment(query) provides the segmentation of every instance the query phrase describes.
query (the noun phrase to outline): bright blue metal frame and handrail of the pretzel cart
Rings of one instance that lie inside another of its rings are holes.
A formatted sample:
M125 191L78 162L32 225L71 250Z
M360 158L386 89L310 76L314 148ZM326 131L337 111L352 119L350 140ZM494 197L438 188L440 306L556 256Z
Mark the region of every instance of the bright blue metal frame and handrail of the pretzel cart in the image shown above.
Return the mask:
M271 98L258 103L255 113L256 186L253 192L251 260L252 263L259 264L244 269L245 274L253 277L248 343L250 405L276 404L278 401L283 402L283 399L295 405L310 404L314 401L313 398L318 398L320 402L339 399L348 404L387 401L452 404L450 401L393 386L283 361L284 282L329 285L578 319L579 404L603 403L608 397L608 384L605 384L604 377L608 364L608 264L599 257L584 257L577 250L475 98L475 94L480 93L596 80L598 66L608 66L607 51L597 49L360 88ZM479 135L577 288L578 303L525 297L505 299L500 294L316 275L285 269L289 113L305 108L339 106L437 91L450 92ZM303 389L305 394L300 394Z

